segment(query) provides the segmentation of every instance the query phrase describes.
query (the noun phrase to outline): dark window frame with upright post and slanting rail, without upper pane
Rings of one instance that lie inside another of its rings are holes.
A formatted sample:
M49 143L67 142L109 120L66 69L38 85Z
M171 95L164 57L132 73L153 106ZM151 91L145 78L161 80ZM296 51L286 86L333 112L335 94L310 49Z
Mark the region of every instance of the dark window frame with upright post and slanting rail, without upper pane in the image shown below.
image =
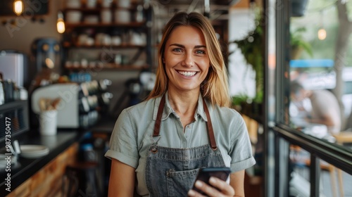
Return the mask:
M275 84L265 79L265 196L289 196L289 144L301 146L310 153L310 196L319 196L320 159L352 174L352 152L348 148L317 139L289 127L289 30L291 1L264 0L265 13L275 10ZM268 28L266 28L268 32ZM269 33L268 33L269 34ZM267 34L266 40L270 39ZM268 43L268 42L266 42ZM268 46L266 47L268 48ZM265 52L268 68L268 51ZM286 75L285 75L286 73ZM265 76L270 77L268 69ZM274 92L275 102L270 103L268 91ZM268 108L275 108L273 120ZM268 124L265 124L268 122Z

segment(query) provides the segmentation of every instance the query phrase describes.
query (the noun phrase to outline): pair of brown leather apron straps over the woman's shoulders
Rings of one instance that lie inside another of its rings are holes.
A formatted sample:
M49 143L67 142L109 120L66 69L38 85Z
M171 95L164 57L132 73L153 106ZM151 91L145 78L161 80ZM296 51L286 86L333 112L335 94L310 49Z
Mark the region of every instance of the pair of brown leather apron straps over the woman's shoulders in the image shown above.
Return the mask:
M163 115L164 106L165 106L165 94L161 98L161 101L159 104L158 114L156 115L156 122L154 125L153 136L159 136L160 126L161 126L161 115ZM206 106L206 101L204 101L204 98L203 98L203 109L204 109L204 112L206 113L206 118L208 119L208 122L206 122L206 125L208 126L208 136L209 136L210 146L213 150L216 150L218 149L218 146L216 146L213 125L211 124L208 106Z

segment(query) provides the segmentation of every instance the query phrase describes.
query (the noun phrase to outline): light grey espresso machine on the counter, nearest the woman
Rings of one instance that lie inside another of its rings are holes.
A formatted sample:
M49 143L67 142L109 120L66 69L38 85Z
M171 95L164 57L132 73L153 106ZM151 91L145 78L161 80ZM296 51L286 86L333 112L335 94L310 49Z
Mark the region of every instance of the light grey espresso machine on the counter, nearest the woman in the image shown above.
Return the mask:
M41 98L60 98L57 127L62 129L87 128L95 125L106 113L111 93L106 91L109 80L92 80L82 83L50 84L35 89L31 106L35 114L40 113Z

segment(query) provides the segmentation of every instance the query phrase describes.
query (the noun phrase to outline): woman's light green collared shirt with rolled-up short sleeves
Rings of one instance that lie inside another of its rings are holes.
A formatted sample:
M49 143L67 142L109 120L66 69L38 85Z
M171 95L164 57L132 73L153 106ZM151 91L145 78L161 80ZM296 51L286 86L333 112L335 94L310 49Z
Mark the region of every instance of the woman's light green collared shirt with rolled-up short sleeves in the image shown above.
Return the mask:
M161 97L152 98L123 110L115 123L110 149L105 155L136 169L137 192L142 196L149 194L144 181L144 170L149 147L158 140L158 137L152 135L160 101ZM254 165L256 161L252 156L249 134L241 115L232 108L211 106L208 102L207 106L213 123L215 141L225 165L230 167L232 172ZM194 122L183 128L166 94L158 146L192 148L210 144L201 95L194 119Z

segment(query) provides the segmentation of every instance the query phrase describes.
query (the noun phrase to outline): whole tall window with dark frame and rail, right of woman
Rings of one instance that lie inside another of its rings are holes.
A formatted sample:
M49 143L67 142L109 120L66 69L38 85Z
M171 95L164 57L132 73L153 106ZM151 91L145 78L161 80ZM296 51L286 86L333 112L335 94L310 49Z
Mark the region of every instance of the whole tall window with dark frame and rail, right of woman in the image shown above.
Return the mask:
M265 194L351 196L352 2L265 3Z

